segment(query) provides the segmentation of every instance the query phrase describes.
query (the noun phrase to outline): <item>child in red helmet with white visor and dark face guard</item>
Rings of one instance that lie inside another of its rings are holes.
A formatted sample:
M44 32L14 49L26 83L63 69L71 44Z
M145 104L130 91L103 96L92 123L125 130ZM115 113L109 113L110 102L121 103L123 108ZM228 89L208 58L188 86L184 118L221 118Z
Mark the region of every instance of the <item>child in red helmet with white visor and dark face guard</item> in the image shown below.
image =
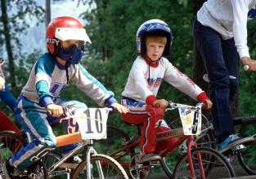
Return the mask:
M25 170L40 156L56 147L56 137L49 123L60 119L63 108L68 107L72 111L86 107L84 103L60 98L61 92L70 81L74 81L74 84L99 106L112 106L119 112L127 112L126 107L117 103L114 94L79 64L86 42L91 43L79 20L62 16L48 24L49 53L42 55L34 63L29 80L16 102L15 110L22 127L35 139L7 160L3 167L7 178L16 177L14 168ZM47 111L52 111L55 118L48 118ZM77 125L74 121L69 121L66 132L74 131L78 131ZM68 150L70 149L66 149Z

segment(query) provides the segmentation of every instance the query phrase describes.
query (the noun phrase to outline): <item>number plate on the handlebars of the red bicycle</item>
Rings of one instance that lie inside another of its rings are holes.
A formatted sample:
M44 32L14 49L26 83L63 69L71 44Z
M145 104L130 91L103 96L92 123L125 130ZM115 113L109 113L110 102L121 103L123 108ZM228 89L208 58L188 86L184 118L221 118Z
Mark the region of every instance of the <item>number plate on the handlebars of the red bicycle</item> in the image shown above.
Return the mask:
M201 110L194 111L189 107L187 105L178 107L184 135L199 135L201 133Z

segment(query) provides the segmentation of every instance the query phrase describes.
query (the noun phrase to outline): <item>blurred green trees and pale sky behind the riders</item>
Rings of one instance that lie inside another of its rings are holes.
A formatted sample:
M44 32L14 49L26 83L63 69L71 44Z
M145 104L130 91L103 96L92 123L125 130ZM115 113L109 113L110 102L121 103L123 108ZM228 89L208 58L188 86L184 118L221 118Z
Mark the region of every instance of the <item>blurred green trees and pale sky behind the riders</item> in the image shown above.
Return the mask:
M120 100L128 72L137 57L137 28L146 20L164 20L174 34L169 61L207 91L203 81L204 66L195 49L192 22L204 0L0 0L0 57L5 59L7 85L16 97L28 79L34 61L47 52L45 31L50 20L68 15L84 24L92 45L86 46L82 64ZM248 24L248 43L252 59L256 58L256 21ZM240 89L234 106L235 116L255 114L255 73L240 67ZM77 99L88 107L97 107L91 98L74 85L63 97ZM172 86L163 84L158 98L176 103L194 103ZM12 120L10 109L0 103ZM110 124L125 128L119 114ZM129 129L126 129L129 130Z

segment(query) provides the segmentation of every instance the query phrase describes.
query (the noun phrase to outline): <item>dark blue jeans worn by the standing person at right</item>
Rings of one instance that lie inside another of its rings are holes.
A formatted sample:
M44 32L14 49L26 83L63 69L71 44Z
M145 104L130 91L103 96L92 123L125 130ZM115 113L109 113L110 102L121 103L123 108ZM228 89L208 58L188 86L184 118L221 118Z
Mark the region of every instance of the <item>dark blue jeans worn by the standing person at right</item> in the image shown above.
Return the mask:
M209 76L209 96L213 102L211 118L217 142L234 133L231 106L238 89L239 55L234 38L222 40L220 34L194 22L194 37Z

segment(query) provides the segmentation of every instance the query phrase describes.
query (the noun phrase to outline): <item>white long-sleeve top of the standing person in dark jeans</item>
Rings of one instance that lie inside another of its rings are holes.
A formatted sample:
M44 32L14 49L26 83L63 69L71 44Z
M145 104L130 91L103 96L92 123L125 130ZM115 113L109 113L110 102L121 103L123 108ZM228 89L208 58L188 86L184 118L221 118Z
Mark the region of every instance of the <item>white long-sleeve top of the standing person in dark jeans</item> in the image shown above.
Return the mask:
M197 12L197 20L217 31L223 40L234 37L240 58L249 57L247 20L255 4L256 0L208 0Z

